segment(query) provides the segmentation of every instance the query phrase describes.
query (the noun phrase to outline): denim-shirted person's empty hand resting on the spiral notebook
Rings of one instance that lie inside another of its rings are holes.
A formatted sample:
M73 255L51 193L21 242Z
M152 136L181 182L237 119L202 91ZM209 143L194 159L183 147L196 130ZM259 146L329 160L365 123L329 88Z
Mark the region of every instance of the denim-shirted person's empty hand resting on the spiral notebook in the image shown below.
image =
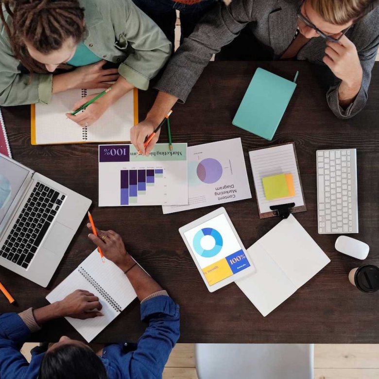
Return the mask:
M62 317L73 317L85 320L103 316L100 310L103 306L99 298L85 290L76 290L58 302L58 308Z

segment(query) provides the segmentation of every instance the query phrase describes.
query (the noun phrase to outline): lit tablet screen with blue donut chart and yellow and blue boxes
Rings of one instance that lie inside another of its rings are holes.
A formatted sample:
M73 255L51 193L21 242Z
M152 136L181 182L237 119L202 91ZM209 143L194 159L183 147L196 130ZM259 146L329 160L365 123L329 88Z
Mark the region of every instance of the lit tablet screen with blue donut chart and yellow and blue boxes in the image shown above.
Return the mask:
M210 286L250 267L224 214L188 230L184 236Z

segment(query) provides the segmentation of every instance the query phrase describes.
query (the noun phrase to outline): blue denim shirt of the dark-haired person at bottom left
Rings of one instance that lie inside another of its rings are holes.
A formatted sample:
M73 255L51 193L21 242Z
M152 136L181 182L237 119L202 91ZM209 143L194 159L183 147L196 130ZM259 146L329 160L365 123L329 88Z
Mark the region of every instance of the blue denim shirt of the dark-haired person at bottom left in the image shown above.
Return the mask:
M131 351L125 344L103 349L101 360L109 379L162 378L164 366L179 338L179 306L169 296L141 304L141 320L149 326ZM0 315L0 378L37 378L44 353L32 350L30 364L20 353L31 332L17 313ZM129 350L129 351L128 351Z

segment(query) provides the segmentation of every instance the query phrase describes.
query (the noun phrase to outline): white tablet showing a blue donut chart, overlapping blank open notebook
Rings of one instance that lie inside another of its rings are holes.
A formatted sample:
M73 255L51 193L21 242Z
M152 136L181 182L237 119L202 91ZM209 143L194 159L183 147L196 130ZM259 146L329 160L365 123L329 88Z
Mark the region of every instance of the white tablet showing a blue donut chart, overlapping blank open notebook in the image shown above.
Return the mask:
M224 207L182 226L179 233L209 292L255 271Z

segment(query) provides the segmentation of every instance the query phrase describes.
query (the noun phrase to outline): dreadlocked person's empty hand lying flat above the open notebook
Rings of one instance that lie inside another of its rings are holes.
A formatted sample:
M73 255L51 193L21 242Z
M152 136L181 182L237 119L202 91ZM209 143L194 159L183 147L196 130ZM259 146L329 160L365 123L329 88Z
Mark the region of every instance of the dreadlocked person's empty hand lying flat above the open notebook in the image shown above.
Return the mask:
M105 63L101 60L72 71L74 88L108 88L109 82L115 82L120 75L118 69L103 69Z

